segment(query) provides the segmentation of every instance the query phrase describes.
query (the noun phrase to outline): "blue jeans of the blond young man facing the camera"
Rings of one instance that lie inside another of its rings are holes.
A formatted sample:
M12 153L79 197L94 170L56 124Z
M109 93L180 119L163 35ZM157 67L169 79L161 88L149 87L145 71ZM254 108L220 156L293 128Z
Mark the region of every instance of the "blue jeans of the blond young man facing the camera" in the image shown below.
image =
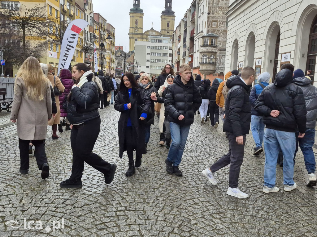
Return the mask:
M187 141L189 129L191 125L180 126L170 122L172 143L168 151L167 160L173 162L173 166L179 166Z

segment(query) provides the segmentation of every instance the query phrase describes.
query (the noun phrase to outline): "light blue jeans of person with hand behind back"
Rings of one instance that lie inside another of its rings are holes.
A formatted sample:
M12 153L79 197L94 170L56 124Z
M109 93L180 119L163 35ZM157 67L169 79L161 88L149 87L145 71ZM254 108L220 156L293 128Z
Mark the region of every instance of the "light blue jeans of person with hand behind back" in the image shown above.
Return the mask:
M264 185L269 188L275 186L276 162L279 150L283 152L283 177L284 185L294 185L294 153L295 132L284 132L274 129L266 129L264 135L265 166Z

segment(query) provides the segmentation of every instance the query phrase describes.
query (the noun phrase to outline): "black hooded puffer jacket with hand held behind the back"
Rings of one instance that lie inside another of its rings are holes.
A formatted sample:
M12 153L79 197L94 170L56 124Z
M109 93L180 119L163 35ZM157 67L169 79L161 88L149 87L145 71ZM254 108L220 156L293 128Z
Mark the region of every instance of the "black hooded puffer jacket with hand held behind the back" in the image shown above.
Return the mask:
M306 131L306 105L303 91L292 83L293 73L283 69L275 77L274 84L263 89L255 102L254 109L263 116L267 128L301 133ZM270 115L272 110L280 111L276 118Z

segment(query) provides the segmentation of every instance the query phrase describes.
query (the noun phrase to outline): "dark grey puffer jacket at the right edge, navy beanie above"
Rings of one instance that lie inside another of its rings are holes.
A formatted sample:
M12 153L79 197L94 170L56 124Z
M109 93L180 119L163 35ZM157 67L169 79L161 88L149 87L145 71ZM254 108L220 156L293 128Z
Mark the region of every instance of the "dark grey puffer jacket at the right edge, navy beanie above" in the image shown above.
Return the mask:
M293 83L302 89L305 98L307 110L306 129L315 128L317 118L317 88L311 85L312 80L306 76L295 78Z

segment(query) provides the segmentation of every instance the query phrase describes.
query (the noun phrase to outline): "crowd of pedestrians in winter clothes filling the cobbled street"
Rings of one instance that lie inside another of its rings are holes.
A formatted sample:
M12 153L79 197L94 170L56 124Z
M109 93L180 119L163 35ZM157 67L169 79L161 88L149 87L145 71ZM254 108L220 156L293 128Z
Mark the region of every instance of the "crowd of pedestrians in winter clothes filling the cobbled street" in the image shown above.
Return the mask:
M212 185L217 185L215 172L230 165L227 194L249 197L238 187L243 163L246 135L250 128L255 147L253 155L265 153L263 192L277 192L275 186L278 157L283 165L284 190L296 188L294 182L295 156L298 146L304 155L308 186L317 183L314 144L317 119L317 88L312 85L311 72L307 76L292 64L283 64L272 83L271 75L263 72L255 83L255 70L245 67L239 73L232 70L220 78L194 80L191 67L180 65L174 73L166 64L162 73L150 76L131 72L123 76L91 71L86 64L76 64L72 72L62 69L54 75L50 64L40 64L29 57L20 67L14 86L10 120L17 123L20 149L20 173L27 174L29 153L34 156L42 179L49 177L45 153L47 126L52 126L52 139L59 132L71 130L73 154L71 176L60 183L61 188L82 186L84 162L104 174L106 184L114 178L116 165L93 153L100 132L98 109L114 105L120 112L118 121L119 157L126 151L126 176L136 173L147 153L151 125L159 117L159 145L166 143L167 173L182 176L180 164L196 112L201 123L218 127L219 117L229 143L228 153L202 171ZM252 85L254 85L252 87ZM152 129L153 131L154 129ZM264 145L262 145L264 143ZM135 151L135 156L133 152ZM135 158L134 158L135 157Z

